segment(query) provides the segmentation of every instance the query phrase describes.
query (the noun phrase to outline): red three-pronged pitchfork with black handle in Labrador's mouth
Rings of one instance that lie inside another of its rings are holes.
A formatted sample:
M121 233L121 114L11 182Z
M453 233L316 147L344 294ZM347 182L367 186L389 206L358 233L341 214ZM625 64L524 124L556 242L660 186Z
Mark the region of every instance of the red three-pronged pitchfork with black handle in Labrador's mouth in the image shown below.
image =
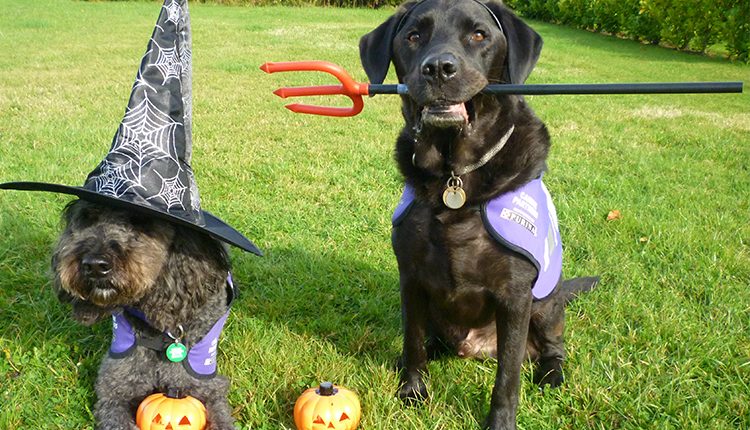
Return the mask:
M292 112L326 116L354 116L362 112L365 104L362 96L376 94L408 94L404 84L368 84L354 82L339 65L327 61L292 61L265 63L260 69L266 73L276 72L326 72L336 77L341 85L279 88L273 93L287 97L344 95L351 99L352 107L315 106L300 103L286 105ZM742 82L654 82L629 84L492 84L483 90L485 94L690 94L690 93L741 93Z

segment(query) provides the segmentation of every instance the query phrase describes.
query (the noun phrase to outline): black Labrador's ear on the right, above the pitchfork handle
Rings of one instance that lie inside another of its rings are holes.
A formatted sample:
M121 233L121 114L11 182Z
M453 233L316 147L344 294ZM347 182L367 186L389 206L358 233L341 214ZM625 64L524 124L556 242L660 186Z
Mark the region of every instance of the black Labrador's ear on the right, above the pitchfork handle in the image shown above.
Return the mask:
M539 60L542 36L502 4L490 2L487 7L500 20L508 43L505 60L507 78L511 84L522 84Z

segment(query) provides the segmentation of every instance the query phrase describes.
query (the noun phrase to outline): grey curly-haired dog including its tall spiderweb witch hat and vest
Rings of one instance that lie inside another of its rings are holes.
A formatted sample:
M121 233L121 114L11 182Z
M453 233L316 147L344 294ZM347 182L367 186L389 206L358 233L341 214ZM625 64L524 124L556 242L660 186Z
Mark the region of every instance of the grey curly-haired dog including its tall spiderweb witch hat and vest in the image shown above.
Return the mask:
M79 198L63 212L52 270L77 320L113 318L96 381L98 429L136 429L139 403L175 389L203 402L208 429L234 428L229 382L216 373L235 296L224 244L262 252L201 206L190 166L191 46L187 0L164 0L125 116L83 186L0 183Z

